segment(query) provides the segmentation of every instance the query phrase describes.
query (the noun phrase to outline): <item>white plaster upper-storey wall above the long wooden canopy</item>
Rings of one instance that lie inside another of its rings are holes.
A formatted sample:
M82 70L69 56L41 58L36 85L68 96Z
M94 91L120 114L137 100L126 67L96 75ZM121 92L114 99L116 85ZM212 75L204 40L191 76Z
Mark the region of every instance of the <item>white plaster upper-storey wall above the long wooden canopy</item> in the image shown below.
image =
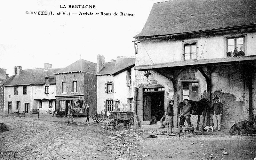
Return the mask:
M184 42L197 40L197 60L226 58L226 37L236 34L219 35L186 39ZM256 55L256 33L246 33L245 55ZM138 43L136 66L165 62L182 61L183 41L181 40L148 40ZM150 58L152 61L150 60Z

